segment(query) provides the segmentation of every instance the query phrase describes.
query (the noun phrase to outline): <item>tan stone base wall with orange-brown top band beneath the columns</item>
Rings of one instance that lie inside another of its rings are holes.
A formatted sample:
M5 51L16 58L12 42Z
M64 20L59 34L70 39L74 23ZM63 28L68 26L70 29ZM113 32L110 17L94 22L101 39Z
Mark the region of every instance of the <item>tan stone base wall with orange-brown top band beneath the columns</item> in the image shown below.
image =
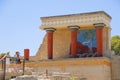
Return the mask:
M86 80L111 80L111 62L108 58L76 58L45 60L26 63L38 72L65 72Z

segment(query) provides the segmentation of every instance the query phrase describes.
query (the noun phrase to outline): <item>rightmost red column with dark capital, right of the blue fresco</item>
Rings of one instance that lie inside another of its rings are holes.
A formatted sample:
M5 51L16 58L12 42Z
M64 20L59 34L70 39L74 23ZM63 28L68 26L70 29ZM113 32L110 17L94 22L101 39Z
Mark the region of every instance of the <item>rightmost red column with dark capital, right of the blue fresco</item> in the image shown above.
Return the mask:
M103 55L103 28L104 23L93 24L96 28L96 42L97 42L97 53L99 56Z

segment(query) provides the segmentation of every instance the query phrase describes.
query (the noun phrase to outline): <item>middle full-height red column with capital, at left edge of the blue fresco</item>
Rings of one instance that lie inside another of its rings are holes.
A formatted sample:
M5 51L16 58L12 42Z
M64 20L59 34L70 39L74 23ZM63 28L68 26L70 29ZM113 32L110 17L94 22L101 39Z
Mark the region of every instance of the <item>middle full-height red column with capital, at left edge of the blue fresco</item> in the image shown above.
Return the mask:
M79 26L69 26L71 30L71 57L77 57L77 31Z

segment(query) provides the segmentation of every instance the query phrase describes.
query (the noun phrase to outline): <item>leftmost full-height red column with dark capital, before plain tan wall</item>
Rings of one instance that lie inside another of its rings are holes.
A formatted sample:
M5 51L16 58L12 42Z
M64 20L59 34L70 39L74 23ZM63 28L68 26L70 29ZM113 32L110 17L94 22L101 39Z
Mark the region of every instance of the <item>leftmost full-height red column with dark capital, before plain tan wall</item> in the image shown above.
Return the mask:
M48 49L48 59L53 59L53 32L54 28L45 28L47 32L47 49Z

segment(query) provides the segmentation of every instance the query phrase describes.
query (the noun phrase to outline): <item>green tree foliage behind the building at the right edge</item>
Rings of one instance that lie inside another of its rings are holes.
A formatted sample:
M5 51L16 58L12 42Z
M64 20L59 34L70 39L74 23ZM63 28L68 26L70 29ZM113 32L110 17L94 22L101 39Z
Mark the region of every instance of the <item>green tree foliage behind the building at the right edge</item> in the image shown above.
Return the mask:
M115 51L116 55L120 55L120 36L111 38L111 49Z

